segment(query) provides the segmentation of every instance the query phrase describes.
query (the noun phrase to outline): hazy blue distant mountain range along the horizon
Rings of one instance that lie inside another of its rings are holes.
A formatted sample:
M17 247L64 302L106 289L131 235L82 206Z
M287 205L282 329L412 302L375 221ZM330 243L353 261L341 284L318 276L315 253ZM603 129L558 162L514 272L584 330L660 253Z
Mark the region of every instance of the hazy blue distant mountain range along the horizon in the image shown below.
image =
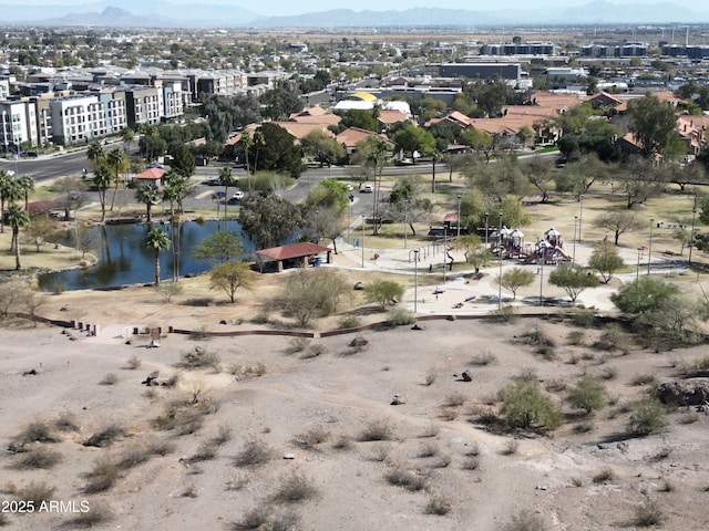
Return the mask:
M578 8L473 11L415 8L402 11L333 9L291 17L264 17L230 6L172 4L115 0L83 6L0 4L0 25L104 28L425 28L538 24L670 24L709 22L709 7L688 10L674 3L618 6L596 1Z

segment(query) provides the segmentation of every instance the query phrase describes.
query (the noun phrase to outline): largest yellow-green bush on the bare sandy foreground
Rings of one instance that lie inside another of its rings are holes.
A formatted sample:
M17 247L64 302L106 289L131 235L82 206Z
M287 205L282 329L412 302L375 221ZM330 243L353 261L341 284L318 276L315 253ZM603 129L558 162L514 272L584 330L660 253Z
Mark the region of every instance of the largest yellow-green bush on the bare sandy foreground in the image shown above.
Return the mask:
M536 377L526 376L499 392L510 429L548 430L562 425L562 407L542 391Z

